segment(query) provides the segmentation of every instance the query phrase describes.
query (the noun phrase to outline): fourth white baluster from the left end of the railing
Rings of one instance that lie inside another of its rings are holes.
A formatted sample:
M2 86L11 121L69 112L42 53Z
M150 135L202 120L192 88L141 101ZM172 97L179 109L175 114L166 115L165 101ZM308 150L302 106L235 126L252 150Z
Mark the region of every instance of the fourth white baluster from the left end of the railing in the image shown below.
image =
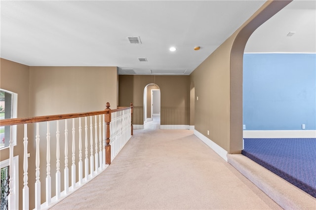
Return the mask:
M46 136L46 204L51 203L51 177L50 177L50 133L49 133L49 121L47 121L47 136Z

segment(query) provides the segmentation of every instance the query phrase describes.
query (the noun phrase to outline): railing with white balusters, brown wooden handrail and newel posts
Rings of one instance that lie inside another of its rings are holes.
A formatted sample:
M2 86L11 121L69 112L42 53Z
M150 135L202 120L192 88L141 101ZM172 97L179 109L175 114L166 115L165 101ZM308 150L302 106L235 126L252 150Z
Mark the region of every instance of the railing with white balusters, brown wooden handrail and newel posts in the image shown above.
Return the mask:
M23 204L16 206L15 172L11 167L8 208L48 209L103 172L133 134L132 108L131 104L130 107L111 110L107 103L103 111L0 120L1 126L24 124L24 149L21 155ZM61 135L63 131L64 135ZM30 148L36 149L30 151ZM10 166L14 164L15 153L13 140L10 140ZM30 171L29 166L34 163L35 171ZM53 174L51 168L54 168ZM34 179L30 180L29 177ZM45 185L41 184L43 181ZM34 195L30 195L30 191Z

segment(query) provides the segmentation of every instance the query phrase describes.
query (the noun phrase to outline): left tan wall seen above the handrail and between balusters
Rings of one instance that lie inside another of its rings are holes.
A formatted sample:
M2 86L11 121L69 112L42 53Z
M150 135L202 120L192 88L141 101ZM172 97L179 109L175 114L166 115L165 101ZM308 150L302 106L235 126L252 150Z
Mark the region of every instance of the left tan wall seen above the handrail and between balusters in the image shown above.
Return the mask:
M30 114L32 116L42 116L51 114L66 114L104 110L109 102L111 108L117 107L118 94L118 74L117 67L30 67ZM94 118L92 118L94 120ZM76 120L76 151L79 151L78 125ZM82 122L83 123L83 122ZM94 124L94 122L93 122ZM68 120L68 167L69 180L71 183L71 151L72 151L72 123ZM89 119L88 119L89 125ZM54 122L50 125L53 132L50 137L50 173L52 186L55 186L56 173L56 126ZM61 176L64 175L64 121L60 122L60 169ZM34 126L30 127L32 134L35 134ZM41 183L45 183L46 169L46 126L40 124L40 169ZM33 137L35 139L35 137ZM90 143L88 143L90 145ZM30 141L30 160L35 162L36 142ZM79 160L76 154L76 163ZM35 171L35 166L31 165L30 170ZM77 172L78 173L78 172ZM78 178L78 176L77 176ZM77 180L78 181L78 180ZM64 180L61 180L61 190L64 189ZM45 192L45 185L41 184L41 191ZM55 192L52 192L52 196ZM45 194L41 194L41 201L45 201Z

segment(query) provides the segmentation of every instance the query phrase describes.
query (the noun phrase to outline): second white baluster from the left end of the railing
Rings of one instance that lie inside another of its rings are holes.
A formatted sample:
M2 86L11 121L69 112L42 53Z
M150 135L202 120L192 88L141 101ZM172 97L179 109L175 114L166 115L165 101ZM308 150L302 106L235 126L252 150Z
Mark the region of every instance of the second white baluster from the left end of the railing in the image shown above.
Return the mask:
M23 153L23 209L28 210L30 208L29 205L29 186L28 186L28 125L24 124L24 153Z

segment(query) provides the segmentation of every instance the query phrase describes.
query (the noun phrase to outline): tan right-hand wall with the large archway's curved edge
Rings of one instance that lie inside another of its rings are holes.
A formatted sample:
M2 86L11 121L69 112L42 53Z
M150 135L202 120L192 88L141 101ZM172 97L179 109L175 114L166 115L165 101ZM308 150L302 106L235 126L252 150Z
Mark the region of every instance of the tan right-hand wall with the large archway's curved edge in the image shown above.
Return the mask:
M267 1L191 74L195 84L195 129L228 153L240 153L242 149L242 60L245 44L261 24L289 2Z

